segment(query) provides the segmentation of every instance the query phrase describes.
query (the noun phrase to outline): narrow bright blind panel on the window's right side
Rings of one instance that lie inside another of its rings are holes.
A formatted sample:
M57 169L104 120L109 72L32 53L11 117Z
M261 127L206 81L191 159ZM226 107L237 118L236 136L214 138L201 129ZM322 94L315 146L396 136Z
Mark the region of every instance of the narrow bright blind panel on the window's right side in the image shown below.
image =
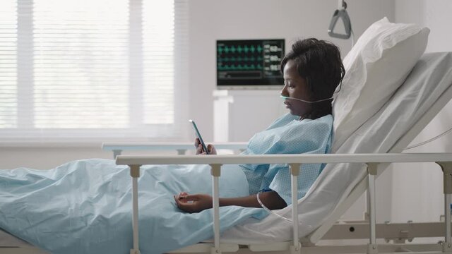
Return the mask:
M150 112L144 121L172 123L174 109L166 102L174 98L174 8L171 1L160 1L160 8L152 1L143 4L143 80L148 84L143 94L145 109Z

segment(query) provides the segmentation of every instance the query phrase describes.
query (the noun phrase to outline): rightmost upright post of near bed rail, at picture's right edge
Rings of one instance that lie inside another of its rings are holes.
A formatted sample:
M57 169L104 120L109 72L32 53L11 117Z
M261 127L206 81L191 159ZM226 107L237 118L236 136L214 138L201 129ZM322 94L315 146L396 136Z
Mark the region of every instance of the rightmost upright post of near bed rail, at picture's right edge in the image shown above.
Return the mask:
M445 234L443 252L452 252L451 241L451 194L452 194L452 162L436 162L443 170L444 182L444 222Z

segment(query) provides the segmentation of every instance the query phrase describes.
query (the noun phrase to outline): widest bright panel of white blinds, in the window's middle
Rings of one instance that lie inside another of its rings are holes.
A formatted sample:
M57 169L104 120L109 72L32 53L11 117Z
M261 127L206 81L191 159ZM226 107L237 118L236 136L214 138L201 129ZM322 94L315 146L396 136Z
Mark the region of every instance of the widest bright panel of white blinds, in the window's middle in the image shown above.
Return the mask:
M129 127L126 0L34 0L35 128Z

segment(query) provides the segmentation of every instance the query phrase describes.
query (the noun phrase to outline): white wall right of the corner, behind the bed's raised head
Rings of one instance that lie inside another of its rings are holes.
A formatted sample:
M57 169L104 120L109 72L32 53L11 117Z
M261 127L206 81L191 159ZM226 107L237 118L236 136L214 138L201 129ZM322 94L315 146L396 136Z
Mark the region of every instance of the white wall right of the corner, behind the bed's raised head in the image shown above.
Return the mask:
M417 23L430 29L426 52L452 52L452 1L396 0L396 22ZM452 102L429 123L412 144L420 143L452 127ZM408 152L452 152L452 134ZM438 221L444 214L443 180L435 164L410 164L392 171L391 220Z

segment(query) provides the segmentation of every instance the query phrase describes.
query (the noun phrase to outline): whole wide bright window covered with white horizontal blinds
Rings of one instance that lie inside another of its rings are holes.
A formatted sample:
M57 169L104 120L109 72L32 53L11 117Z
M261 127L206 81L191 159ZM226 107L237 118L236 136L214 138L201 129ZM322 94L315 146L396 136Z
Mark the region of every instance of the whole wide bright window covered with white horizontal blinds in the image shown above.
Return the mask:
M1 140L179 138L185 1L1 0Z

